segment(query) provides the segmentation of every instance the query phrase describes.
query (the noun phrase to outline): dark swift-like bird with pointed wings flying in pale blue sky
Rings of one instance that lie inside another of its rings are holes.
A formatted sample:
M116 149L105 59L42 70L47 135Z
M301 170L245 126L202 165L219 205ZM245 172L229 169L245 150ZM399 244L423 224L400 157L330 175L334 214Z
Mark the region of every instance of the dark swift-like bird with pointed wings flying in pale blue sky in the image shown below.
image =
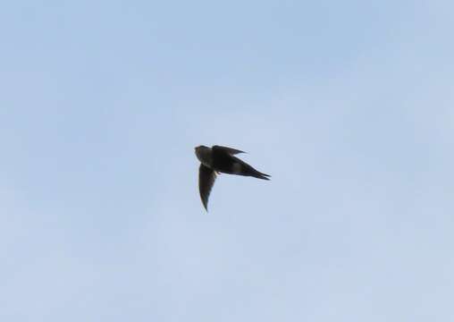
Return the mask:
M202 199L202 204L206 211L208 211L208 198L217 174L237 174L270 180L270 174L263 174L238 157L234 157L237 154L246 153L239 149L218 145L208 148L200 145L195 148L195 153L200 161L198 168L198 191L200 192L200 199Z

